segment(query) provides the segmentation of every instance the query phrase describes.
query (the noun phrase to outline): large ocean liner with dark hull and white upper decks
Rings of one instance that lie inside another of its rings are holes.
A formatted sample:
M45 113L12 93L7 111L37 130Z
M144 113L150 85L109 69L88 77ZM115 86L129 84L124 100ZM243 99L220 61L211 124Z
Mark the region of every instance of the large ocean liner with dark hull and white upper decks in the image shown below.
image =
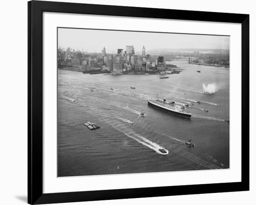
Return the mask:
M185 107L175 104L175 102L167 102L164 100L148 100L148 105L161 109L165 112L190 118L192 114L185 112Z

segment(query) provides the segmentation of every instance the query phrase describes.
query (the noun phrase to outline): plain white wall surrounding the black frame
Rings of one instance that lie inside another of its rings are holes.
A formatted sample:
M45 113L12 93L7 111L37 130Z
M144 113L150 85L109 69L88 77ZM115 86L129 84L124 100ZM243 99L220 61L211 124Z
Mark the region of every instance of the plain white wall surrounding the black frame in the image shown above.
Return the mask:
M60 0L59 0L60 1ZM66 0L62 0L66 1ZM250 14L250 191L122 199L70 205L255 204L256 111L254 89L256 6L252 0L69 0L69 2ZM1 1L0 11L0 205L27 203L27 0Z

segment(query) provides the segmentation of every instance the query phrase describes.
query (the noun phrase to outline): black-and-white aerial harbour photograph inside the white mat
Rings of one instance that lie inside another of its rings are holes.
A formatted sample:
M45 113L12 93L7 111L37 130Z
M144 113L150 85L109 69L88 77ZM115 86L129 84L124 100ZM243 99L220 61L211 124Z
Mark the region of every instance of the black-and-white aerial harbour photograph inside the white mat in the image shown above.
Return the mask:
M58 177L229 169L229 36L57 38Z

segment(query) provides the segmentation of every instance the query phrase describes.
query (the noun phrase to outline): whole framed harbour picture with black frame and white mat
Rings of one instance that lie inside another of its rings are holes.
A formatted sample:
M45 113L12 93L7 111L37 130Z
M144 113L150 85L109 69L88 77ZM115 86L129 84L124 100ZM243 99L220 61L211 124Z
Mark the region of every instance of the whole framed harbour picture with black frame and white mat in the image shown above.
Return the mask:
M249 15L28 2L28 203L249 190Z

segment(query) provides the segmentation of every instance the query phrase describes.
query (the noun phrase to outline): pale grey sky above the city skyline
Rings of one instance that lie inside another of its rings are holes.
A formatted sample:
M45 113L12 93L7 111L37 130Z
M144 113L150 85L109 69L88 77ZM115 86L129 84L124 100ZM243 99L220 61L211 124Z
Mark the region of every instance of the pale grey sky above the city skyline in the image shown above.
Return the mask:
M58 29L58 46L70 47L80 51L115 53L117 49L126 50L126 45L134 45L135 53L154 49L229 49L228 36L196 34L126 32L90 29Z

